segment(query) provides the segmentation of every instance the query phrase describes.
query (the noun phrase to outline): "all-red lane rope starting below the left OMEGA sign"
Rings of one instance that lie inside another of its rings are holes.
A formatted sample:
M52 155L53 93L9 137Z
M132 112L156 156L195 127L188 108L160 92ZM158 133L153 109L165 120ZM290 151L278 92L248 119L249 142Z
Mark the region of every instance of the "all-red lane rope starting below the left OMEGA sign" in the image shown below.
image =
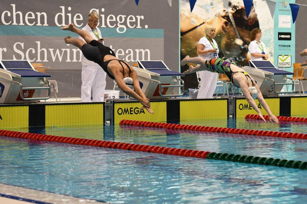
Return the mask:
M281 138L292 138L292 139L307 139L307 134L293 133L293 132L274 132L274 131L263 131L263 130L249 130L239 128L218 128L208 127L199 125L183 125L173 123L157 123L147 121L132 121L132 120L121 120L120 125L131 125L140 127L152 127L152 128L165 128L173 130L191 130L191 131L202 131L202 132L221 132L228 134L238 135L257 135L257 136L268 136L268 137L281 137Z

